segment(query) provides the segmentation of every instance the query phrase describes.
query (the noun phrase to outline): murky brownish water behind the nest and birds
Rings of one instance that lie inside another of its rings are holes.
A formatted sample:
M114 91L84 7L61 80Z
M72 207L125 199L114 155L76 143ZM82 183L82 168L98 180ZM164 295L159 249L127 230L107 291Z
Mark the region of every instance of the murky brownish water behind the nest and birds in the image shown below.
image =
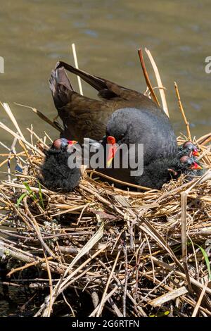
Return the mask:
M211 74L205 73L205 58L211 56L210 0L0 0L0 4L0 56L5 61L0 100L10 104L24 133L32 123L38 134L46 130L58 137L37 115L13 102L38 108L51 119L56 116L49 75L58 60L73 63L72 42L80 68L139 91L146 84L136 50L147 46L167 88L177 134L186 131L174 80L192 134L210 132ZM71 80L77 88L75 77ZM87 96L96 96L84 83L83 89ZM3 109L0 120L12 127ZM11 136L0 130L0 141L11 145Z

